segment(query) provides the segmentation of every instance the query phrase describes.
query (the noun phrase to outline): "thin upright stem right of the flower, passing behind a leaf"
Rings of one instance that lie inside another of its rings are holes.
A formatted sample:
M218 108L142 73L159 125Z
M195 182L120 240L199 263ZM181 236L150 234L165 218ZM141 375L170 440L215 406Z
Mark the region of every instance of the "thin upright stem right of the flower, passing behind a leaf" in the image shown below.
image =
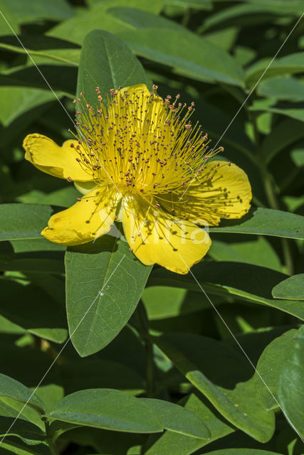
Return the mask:
M278 203L278 198L276 196L275 191L273 190L273 181L271 178L271 175L268 172L266 161L261 154L259 154L260 147L259 147L259 133L258 133L258 127L256 124L256 116L253 114L251 116L251 122L253 123L253 132L254 132L254 137L256 141L256 150L258 152L258 167L260 168L261 174L262 174L262 180L264 184L264 189L266 193L266 197L268 200L268 203L271 208L274 210L280 210L280 204ZM282 250L283 250L283 257L284 257L284 262L285 262L285 267L288 271L288 274L292 275L294 268L293 268L293 256L291 255L290 252L290 242L288 242L288 239L281 238L281 245L282 245Z

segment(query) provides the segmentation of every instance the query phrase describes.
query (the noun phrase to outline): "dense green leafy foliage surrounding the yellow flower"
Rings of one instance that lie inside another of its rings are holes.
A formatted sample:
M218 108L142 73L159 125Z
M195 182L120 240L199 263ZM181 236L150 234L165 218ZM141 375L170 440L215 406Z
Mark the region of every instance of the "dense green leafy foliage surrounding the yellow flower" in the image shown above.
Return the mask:
M0 455L303 454L303 20L259 78L304 1L0 6ZM121 235L44 240L78 191L23 159L28 133L71 138L77 92L151 81L195 101L253 188L195 279Z

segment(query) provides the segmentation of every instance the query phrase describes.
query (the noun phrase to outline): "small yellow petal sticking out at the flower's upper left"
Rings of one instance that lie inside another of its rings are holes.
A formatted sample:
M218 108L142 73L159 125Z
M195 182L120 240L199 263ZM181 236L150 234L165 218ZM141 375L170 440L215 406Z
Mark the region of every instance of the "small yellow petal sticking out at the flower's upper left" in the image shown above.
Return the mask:
M25 149L25 159L30 161L40 171L50 173L51 176L59 178L70 177L73 181L93 180L90 169L84 169L76 159L79 157L78 151L70 144L78 146L78 141L68 140L58 146L42 134L28 134L23 141ZM81 146L80 146L81 147Z

